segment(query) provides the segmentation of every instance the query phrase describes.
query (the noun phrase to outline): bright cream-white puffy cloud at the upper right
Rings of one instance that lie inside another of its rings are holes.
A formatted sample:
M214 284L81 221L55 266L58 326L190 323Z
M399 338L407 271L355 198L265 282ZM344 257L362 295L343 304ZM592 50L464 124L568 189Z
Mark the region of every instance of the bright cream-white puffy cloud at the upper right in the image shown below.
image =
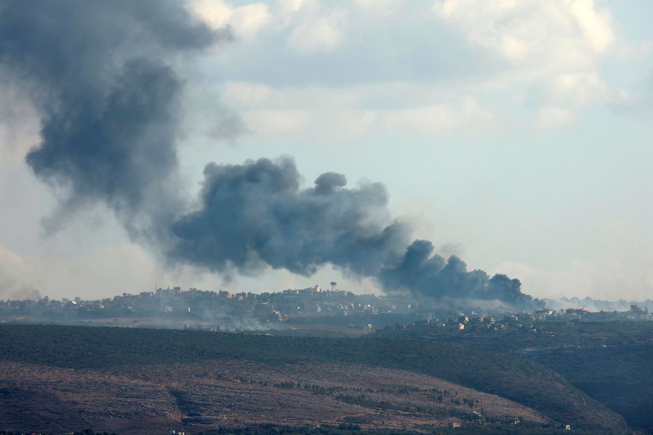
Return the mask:
M494 86L509 93L530 84L539 128L572 123L619 93L600 74L615 45L613 19L593 0L438 0L434 11L470 44L500 56Z

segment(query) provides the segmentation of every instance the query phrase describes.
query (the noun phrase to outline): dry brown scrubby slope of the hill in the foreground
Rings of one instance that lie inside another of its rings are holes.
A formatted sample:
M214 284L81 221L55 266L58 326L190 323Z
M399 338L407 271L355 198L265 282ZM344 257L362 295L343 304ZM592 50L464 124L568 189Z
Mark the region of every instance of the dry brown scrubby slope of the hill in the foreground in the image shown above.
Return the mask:
M437 378L343 364L204 361L82 370L4 361L0 379L0 421L29 430L96 427L142 434L183 427L197 433L279 423L402 429L481 415L547 423L515 402Z

